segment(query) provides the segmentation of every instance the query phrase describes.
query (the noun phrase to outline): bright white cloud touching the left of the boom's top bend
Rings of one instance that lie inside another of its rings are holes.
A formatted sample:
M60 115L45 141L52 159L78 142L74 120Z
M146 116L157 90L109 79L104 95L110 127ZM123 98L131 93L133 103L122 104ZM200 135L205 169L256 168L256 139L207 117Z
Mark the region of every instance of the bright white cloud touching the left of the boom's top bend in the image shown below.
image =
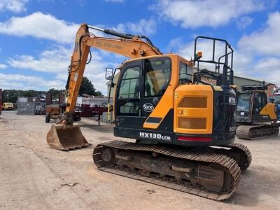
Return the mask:
M22 18L12 17L0 22L0 34L14 36L34 36L57 43L73 43L79 25L59 20L41 12L32 13Z

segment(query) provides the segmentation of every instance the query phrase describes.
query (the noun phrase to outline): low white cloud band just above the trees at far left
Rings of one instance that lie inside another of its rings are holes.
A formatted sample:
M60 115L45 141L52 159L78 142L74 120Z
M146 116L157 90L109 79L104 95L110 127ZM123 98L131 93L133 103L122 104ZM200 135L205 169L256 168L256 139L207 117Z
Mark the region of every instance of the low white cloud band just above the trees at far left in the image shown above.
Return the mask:
M49 90L50 88L61 89L62 80L44 80L38 76L25 76L22 74L0 73L0 83L3 89L21 90Z

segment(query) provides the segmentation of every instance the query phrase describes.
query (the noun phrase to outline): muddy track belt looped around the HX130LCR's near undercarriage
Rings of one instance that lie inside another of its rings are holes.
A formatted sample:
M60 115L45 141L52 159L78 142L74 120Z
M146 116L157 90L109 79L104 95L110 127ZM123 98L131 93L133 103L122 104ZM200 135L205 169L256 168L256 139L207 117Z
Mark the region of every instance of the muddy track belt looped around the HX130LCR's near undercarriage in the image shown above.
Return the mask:
M146 177L140 176L138 174L134 174L133 172L122 171L122 168L117 165L104 165L104 162L101 158L101 152L105 148L116 148L125 151L149 151L160 153L162 155L167 155L169 157L180 158L185 160L204 162L204 163L216 163L218 165L222 165L232 176L232 186L225 192L221 192L220 194L210 192L209 190L202 190L200 188L193 188L190 186L180 185L174 183L174 181L165 180L164 177L157 179L156 177ZM103 144L99 144L94 148L93 151L93 160L97 167L104 171L112 174L118 174L120 176L129 177L132 179L137 179L140 181L145 181L147 183L153 183L158 186L163 186L167 188L171 188L174 190L179 190L181 192L190 193L193 195L198 195L200 197L206 197L211 200L226 200L228 199L232 193L237 190L237 186L239 185L240 177L241 177L241 169L237 165L237 162L227 155L218 154L218 153L202 153L202 152L188 152L179 148L170 148L168 146L162 145L144 145L144 144L134 144L127 141L109 141Z

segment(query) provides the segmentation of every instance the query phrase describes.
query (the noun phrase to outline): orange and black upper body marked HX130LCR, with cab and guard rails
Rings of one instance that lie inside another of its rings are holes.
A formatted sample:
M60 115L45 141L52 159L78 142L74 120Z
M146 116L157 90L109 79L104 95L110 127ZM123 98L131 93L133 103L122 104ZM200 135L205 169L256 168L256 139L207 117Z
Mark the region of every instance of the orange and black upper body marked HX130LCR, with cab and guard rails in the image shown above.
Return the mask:
M220 85L201 82L199 64L208 62L201 57L195 59L196 76L194 61L176 54L140 57L123 63L118 83L112 83L116 87L116 137L184 146L225 145L234 141L235 92L229 85L233 73L232 65L228 65L233 50L224 40L207 39L214 45L221 41L228 49L218 60L214 57L211 61L221 75ZM225 59L221 61L221 57ZM113 76L106 77L113 80Z

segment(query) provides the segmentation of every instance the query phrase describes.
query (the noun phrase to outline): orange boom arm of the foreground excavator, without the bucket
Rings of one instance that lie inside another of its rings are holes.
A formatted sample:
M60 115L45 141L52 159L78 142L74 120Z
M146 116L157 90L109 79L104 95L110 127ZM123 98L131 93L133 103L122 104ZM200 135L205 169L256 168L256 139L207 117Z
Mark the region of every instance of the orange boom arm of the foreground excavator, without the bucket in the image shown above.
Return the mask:
M104 31L105 34L111 34L120 38L94 36L93 34L90 34L89 28ZM146 38L146 41L143 41L141 38L146 37L122 34L110 29L99 29L86 24L80 26L76 34L75 48L69 66L69 78L66 85L66 90L68 90L68 94L66 94L66 113L64 113L66 116L64 117L71 116L75 109L76 99L80 90L90 47L99 48L130 58L162 55L162 52L160 52L160 50L158 50L148 38Z

